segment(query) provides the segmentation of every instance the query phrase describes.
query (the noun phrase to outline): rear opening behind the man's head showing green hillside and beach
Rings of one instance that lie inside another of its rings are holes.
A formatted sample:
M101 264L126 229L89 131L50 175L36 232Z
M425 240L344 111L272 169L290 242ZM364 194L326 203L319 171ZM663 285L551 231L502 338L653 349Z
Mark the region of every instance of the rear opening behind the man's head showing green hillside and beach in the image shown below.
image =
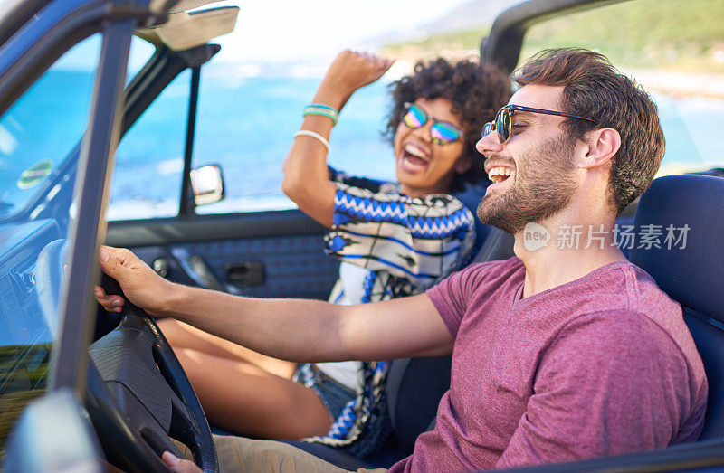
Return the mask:
M526 34L545 48L602 52L652 93L666 137L659 175L724 166L724 2L638 0L569 14Z

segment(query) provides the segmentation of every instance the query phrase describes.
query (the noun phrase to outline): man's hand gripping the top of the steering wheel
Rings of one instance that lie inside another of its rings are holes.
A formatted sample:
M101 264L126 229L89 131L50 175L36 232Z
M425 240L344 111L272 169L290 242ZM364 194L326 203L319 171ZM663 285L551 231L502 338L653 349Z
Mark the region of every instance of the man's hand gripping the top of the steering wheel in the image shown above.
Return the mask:
M150 316L167 312L163 296L169 294L173 283L161 278L148 265L125 248L100 247L100 269L119 282L129 301L145 310ZM110 312L120 312L124 299L106 294L100 286L93 290L96 300Z

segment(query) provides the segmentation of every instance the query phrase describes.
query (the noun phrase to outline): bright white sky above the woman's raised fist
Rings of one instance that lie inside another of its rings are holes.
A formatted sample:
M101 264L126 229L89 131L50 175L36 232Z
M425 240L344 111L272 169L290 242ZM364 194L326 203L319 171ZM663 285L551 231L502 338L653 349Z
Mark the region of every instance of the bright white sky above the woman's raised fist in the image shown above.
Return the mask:
M214 61L303 61L331 58L382 33L413 30L468 0L239 0L233 33L219 37Z

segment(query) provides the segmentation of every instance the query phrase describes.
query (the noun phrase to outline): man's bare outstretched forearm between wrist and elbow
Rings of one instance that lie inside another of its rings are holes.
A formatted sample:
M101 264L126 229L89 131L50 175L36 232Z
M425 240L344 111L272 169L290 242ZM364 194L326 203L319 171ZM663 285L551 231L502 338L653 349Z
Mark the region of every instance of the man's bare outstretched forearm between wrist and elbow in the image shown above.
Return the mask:
M174 285L170 316L264 355L297 362L348 359L340 324L344 307L319 300L259 299Z

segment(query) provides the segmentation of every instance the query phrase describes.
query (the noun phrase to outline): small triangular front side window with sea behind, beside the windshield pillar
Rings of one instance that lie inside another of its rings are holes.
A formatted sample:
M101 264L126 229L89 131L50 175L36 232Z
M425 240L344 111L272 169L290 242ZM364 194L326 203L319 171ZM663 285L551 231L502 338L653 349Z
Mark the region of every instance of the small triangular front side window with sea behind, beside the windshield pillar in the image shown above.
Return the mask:
M186 70L168 84L121 138L108 220L178 214L190 74Z

